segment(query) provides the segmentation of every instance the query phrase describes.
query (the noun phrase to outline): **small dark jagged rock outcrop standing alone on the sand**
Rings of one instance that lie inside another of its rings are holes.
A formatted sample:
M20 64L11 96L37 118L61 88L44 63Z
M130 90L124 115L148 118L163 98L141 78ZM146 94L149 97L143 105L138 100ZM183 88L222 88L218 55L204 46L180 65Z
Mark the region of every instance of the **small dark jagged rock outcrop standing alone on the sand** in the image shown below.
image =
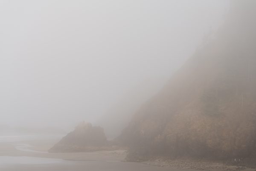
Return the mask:
M98 151L108 146L103 128L82 122L68 133L49 152Z

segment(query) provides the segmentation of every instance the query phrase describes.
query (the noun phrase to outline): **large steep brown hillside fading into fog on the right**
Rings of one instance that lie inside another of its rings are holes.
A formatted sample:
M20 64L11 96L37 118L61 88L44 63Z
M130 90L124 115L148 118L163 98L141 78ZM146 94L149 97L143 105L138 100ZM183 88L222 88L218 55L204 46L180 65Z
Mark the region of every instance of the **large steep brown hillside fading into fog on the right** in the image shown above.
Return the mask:
M119 140L133 160L256 156L256 1L231 3L215 39L123 130Z

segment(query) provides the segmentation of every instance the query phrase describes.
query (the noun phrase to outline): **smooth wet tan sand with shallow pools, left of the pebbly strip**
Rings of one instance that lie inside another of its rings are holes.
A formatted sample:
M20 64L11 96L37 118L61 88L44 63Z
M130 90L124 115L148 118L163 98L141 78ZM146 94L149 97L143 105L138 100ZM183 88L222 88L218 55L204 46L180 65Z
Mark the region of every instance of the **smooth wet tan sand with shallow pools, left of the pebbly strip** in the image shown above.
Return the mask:
M124 162L125 150L48 153L56 141L58 139L0 142L0 171L178 171Z

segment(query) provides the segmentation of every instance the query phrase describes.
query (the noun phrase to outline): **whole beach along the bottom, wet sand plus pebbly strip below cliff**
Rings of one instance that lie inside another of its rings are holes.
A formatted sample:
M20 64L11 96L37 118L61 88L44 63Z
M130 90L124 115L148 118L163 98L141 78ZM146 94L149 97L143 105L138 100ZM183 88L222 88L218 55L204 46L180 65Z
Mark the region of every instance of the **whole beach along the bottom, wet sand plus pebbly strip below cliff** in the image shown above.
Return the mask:
M49 153L61 136L0 137L0 171L236 171L237 166L192 160L158 158L143 163L126 162L127 151ZM244 171L255 169L243 168Z

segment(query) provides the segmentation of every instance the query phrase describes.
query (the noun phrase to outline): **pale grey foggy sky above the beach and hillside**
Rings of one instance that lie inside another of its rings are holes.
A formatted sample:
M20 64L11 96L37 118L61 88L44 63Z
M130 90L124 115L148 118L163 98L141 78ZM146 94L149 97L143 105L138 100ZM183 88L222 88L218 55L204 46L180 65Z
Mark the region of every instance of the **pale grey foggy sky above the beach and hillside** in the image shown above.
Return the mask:
M96 121L144 80L163 85L228 7L228 0L0 0L0 124Z

